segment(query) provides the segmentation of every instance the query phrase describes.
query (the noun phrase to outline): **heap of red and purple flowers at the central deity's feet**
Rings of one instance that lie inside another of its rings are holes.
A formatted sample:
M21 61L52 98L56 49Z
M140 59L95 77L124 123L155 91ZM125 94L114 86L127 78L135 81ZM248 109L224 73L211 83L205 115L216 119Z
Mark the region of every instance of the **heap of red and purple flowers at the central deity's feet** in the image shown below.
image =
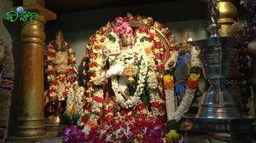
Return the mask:
M123 121L110 120L108 124L84 127L70 126L63 130L63 142L158 142L164 143L166 134L165 124L159 120L136 119L131 115Z

